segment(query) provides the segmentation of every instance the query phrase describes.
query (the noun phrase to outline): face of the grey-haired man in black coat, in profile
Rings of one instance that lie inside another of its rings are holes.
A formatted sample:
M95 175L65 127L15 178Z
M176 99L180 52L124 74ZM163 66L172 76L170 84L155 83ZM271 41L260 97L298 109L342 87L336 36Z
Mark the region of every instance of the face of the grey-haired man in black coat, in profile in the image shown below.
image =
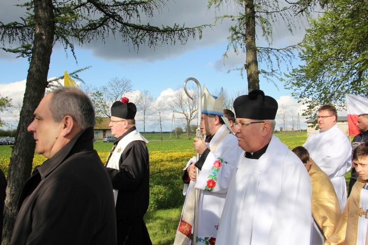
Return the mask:
M48 94L41 100L34 111L33 122L27 128L29 132L33 133L33 138L36 140L36 152L46 158L51 158L61 148L56 142L62 130L63 123L53 121L49 109L49 102L52 96L53 94Z

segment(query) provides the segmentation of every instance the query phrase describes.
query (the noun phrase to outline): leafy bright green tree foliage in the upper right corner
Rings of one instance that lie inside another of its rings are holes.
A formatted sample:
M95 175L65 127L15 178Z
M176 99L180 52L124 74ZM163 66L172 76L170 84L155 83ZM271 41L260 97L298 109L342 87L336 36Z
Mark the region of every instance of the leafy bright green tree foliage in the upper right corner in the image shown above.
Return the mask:
M309 118L321 104L344 106L345 94L367 97L368 2L333 0L327 9L300 44L305 65L286 75L285 87L308 105Z

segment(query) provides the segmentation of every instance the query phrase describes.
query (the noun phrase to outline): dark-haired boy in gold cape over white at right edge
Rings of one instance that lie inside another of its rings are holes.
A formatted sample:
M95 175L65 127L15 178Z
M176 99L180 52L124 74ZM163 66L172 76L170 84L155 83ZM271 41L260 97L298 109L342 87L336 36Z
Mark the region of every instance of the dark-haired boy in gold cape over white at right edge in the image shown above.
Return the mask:
M326 244L368 244L368 142L356 147L352 158L359 177L351 189L339 227Z

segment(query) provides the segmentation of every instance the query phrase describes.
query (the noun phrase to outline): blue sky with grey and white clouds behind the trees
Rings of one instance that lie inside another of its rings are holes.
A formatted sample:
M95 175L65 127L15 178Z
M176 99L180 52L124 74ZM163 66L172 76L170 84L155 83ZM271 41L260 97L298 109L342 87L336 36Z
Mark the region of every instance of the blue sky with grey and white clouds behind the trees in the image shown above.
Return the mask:
M23 1L23 0L22 0ZM19 17L24 14L24 9L14 6L21 0L1 0L0 21L9 23L20 21ZM201 24L214 24L215 11L208 9L205 0L170 0L161 15L153 19L152 25L172 25L174 23L185 23L185 26L196 26ZM224 12L236 11L234 6L224 7ZM230 21L217 23L211 28L205 28L203 38L188 41L185 45L162 46L149 49L146 46L139 47L139 52L132 46L123 43L117 36L110 37L105 42L101 40L92 41L82 47L76 44L76 56L78 64L70 53L65 53L63 47L56 43L53 48L49 78L62 76L64 71L69 73L87 67L92 68L79 73L85 83L89 86L101 87L114 78L127 78L133 84L133 91L148 90L150 94L160 100L160 97L172 95L175 90L183 87L184 80L194 77L199 80L202 87L206 87L210 93L218 91L221 87L228 93L247 90L246 77L242 78L239 72L228 73L229 69L241 66L245 61L245 54L236 55L229 53L224 60L223 53L227 46ZM262 35L257 45L265 45ZM296 44L303 39L303 28L297 29L294 35L286 31L285 26L277 26L274 32L274 46L283 47ZM225 65L224 65L225 63ZM299 61L294 62L295 65ZM13 99L13 104L23 99L25 90L25 79L28 70L28 60L16 58L14 54L0 50L0 96ZM264 64L259 64L260 69L265 69ZM291 70L292 67L288 67ZM285 70L287 72L287 70ZM275 81L268 83L260 76L260 88L265 95L275 98L279 104L297 115L305 106L298 104L290 97L290 92L285 90L283 83ZM78 82L78 81L77 81ZM194 84L194 83L193 83ZM164 131L171 130L172 113L167 112L167 120ZM1 120L8 125L16 125L16 119L9 112L0 113ZM137 120L138 130L143 130L143 124ZM306 128L305 120L301 119L301 127ZM196 122L193 122L195 124ZM277 120L280 127L279 120ZM176 122L176 126L180 122ZM146 131L155 130L146 124Z

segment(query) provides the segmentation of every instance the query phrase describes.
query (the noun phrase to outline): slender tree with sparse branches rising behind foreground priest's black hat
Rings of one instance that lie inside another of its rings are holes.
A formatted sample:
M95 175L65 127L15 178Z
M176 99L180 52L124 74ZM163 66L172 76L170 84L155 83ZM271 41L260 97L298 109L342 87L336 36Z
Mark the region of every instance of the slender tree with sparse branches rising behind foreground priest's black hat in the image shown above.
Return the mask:
M272 78L281 76L281 65L291 64L294 55L294 47L273 48L273 35L275 26L285 25L290 34L296 27L301 26L301 18L308 16L310 9L315 6L313 0L300 0L296 2L284 0L209 0L209 7L222 9L223 4L233 3L237 14L225 14L217 17L218 20L231 19L235 25L231 26L228 46L224 53L233 50L236 54L244 52L246 54L245 63L238 67L241 76L246 71L248 81L248 91L260 88L259 74L267 81L273 82ZM230 8L229 8L230 9ZM256 26L262 30L262 36L268 46L256 45L259 33L256 33ZM266 69L259 69L258 64L263 63ZM229 71L230 72L230 71ZM276 84L275 84L276 85Z

